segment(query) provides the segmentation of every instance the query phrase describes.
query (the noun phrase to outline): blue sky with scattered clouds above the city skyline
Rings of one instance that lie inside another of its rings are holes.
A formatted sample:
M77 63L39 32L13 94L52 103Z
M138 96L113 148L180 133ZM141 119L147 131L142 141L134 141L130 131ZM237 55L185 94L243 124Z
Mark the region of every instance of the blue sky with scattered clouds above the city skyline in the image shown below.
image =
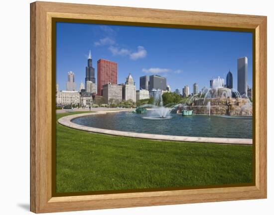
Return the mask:
M248 84L252 86L252 33L99 25L56 24L56 82L65 90L67 72L75 73L77 90L85 80L91 50L95 77L97 61L118 63L118 83L132 73L137 89L139 77L165 76L171 90L182 90L197 82L199 91L209 80L224 77L230 70L237 89L237 59L248 58Z

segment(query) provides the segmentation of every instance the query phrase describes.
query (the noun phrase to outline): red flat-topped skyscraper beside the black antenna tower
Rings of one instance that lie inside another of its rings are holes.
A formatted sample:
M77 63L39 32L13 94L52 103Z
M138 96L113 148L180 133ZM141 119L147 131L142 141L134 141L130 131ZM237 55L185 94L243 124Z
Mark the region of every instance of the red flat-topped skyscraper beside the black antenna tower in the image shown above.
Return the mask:
M100 59L97 61L97 94L102 95L103 85L117 84L117 63Z

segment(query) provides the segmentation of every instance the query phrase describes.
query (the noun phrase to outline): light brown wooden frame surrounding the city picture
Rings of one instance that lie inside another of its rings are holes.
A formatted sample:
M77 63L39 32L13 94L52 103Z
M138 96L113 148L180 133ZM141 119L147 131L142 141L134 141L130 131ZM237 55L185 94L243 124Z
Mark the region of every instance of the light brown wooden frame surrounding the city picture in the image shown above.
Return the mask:
M140 26L251 30L254 32L255 183L252 186L130 192L82 196L52 195L53 18ZM267 198L267 17L56 2L30 4L30 211L80 211L138 206Z

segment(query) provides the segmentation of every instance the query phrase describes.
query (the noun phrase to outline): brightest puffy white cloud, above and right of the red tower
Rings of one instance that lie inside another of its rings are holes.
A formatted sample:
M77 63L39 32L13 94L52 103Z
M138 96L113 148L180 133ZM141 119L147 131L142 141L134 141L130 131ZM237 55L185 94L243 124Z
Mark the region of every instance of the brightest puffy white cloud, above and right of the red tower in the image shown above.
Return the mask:
M110 46L109 50L112 52L114 56L121 55L121 56L129 56L132 60L137 60L139 58L144 58L147 54L147 51L142 46L137 47L137 52L132 52L125 48L119 48L115 46Z

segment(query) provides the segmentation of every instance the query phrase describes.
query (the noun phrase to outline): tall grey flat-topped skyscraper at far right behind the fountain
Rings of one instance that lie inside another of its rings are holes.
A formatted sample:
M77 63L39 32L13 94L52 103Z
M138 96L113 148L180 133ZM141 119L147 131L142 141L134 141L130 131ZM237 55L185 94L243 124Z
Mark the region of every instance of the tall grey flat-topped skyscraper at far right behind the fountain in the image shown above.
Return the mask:
M247 72L248 58L243 57L238 59L238 91L241 95L247 95Z

